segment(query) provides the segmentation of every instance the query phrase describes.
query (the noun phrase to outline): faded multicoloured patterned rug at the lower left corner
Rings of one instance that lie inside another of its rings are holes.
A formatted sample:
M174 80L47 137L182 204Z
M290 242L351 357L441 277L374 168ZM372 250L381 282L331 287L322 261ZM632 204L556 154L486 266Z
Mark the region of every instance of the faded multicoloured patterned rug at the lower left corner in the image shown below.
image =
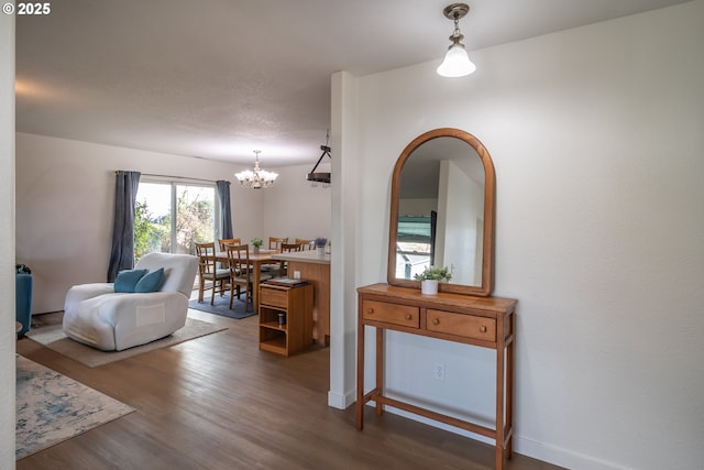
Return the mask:
M16 460L132 412L97 390L16 357Z

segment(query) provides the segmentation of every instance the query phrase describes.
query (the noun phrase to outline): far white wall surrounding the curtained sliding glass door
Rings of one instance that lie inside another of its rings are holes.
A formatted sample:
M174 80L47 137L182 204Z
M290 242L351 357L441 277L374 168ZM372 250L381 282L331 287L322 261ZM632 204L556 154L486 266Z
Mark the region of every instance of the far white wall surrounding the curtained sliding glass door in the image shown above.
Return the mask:
M302 167L276 168L276 186L255 192L234 178L246 165L25 133L16 134L16 260L34 274L34 314L62 310L74 284L105 282L116 170L232 182L233 231L243 242L282 231L329 232L329 192L299 185Z

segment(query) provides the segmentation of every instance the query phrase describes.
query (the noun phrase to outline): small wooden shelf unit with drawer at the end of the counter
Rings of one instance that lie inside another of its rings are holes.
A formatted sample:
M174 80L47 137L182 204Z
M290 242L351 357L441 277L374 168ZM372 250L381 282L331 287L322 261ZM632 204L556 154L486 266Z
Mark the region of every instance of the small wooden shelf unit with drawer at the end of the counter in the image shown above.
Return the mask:
M283 315L285 323L279 325ZM312 285L260 285L260 349L282 356L312 345Z

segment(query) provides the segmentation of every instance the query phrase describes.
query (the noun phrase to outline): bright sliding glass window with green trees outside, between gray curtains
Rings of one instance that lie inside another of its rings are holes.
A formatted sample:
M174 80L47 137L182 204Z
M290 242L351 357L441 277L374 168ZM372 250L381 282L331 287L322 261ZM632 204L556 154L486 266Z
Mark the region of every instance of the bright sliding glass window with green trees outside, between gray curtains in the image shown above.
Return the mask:
M142 178L134 211L134 261L152 251L195 254L216 239L216 186Z

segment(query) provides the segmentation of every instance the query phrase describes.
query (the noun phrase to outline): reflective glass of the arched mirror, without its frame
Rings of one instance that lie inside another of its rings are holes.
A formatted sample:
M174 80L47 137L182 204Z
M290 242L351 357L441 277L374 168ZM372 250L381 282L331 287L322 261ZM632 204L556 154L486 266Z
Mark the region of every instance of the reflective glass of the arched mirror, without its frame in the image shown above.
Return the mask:
M396 277L448 266L452 282L482 284L484 167L466 142L433 139L400 173Z

